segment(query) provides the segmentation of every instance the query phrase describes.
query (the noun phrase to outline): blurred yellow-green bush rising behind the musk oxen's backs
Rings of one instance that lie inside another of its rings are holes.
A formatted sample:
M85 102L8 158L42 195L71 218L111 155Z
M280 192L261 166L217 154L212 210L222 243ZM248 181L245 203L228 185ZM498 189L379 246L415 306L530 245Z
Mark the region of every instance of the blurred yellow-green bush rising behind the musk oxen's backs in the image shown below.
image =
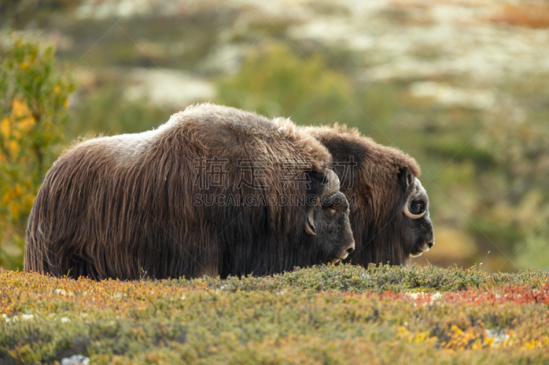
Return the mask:
M299 124L333 123L345 112L351 84L319 56L307 60L279 43L248 52L240 72L218 82L219 103Z

